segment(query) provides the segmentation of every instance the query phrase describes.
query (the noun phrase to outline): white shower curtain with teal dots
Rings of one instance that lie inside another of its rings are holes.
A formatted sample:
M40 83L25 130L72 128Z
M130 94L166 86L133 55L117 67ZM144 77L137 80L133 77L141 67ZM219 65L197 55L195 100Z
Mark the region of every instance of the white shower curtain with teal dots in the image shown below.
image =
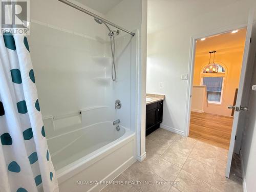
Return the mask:
M27 37L0 36L0 191L58 191Z

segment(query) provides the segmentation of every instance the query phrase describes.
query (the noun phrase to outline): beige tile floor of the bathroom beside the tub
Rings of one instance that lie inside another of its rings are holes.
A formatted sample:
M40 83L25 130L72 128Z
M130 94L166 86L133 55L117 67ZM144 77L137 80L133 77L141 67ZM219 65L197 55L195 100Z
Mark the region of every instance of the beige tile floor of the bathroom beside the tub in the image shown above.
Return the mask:
M146 137L146 159L135 162L101 191L238 192L242 180L225 177L227 150L164 129ZM135 183L146 181L147 183Z

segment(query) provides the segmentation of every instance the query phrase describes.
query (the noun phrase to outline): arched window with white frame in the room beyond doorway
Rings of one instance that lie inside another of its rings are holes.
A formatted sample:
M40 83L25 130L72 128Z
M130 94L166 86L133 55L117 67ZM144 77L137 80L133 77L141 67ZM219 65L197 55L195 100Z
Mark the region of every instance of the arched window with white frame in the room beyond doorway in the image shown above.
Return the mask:
M214 66L204 66L201 73L201 85L206 86L208 103L221 104L225 74L226 69L219 63L214 63Z

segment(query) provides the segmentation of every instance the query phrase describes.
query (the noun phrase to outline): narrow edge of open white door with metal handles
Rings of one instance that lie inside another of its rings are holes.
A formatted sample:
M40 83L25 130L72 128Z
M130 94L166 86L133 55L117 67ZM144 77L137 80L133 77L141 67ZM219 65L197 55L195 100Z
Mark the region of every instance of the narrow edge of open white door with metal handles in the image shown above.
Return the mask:
M237 134L237 127L238 127L239 120L240 120L239 119L240 111L247 110L246 108L243 108L245 106L241 106L241 104L242 104L243 90L244 90L245 77L246 77L246 67L247 67L249 50L250 50L250 39L251 39L252 26L253 26L253 11L250 12L249 18L248 18L244 55L243 55L243 63L242 63L240 82L239 82L239 88L238 88L237 103L236 103L236 106L229 106L229 109L234 108L235 112L234 112L233 126L232 126L229 151L228 151L226 177L229 177L229 174L230 174L231 161L232 161L232 155L233 155L234 144L235 144L235 137Z

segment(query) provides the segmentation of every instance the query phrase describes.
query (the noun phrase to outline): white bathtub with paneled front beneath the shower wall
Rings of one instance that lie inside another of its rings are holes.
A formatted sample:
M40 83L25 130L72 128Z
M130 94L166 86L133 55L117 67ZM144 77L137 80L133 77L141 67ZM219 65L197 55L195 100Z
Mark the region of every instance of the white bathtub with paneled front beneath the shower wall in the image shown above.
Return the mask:
M135 133L112 122L48 138L60 192L99 191L136 161ZM90 182L89 182L90 181Z

